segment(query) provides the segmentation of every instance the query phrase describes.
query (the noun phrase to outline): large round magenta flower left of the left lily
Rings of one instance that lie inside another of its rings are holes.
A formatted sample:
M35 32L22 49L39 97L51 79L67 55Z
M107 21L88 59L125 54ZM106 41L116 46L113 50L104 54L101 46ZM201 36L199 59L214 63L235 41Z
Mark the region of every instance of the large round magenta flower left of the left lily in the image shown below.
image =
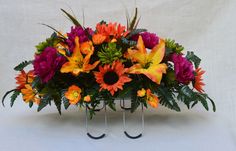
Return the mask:
M40 77L43 83L47 83L65 61L64 57L58 56L55 48L47 47L40 55L35 56L33 62L35 74Z

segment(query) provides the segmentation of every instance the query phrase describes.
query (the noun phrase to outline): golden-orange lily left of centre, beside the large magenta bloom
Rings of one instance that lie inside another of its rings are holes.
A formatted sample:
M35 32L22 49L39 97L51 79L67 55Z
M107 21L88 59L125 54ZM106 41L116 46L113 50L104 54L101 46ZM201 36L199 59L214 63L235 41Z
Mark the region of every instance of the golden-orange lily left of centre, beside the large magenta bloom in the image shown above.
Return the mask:
M93 64L89 64L90 57L93 54L93 47L89 47L88 45L84 45L86 48L80 47L79 44L79 37L75 38L75 48L71 57L66 56L65 52L59 51L62 55L64 55L68 62L63 64L61 68L62 73L69 73L71 72L73 75L78 76L81 72L89 73L90 70L94 69L98 64L99 61L94 62ZM82 55L82 50L86 53L85 57Z

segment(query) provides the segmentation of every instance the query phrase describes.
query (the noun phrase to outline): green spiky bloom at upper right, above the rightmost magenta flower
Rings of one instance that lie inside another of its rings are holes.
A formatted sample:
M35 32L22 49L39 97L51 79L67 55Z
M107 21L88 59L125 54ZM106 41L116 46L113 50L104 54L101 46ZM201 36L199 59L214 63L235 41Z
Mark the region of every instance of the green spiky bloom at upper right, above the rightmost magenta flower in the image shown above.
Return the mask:
M166 39L166 52L165 55L168 56L171 53L181 53L184 50L184 47L175 42L175 40Z

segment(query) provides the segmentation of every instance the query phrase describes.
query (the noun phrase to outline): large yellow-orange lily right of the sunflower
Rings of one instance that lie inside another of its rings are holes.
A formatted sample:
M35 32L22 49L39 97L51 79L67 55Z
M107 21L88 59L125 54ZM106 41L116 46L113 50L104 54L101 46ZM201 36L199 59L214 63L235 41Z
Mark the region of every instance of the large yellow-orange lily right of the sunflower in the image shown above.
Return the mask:
M165 42L160 39L160 43L156 45L150 53L147 52L142 37L139 36L137 50L128 49L126 54L133 62L137 62L129 69L131 74L144 74L153 82L160 84L162 74L166 73L167 65L161 63L165 54Z

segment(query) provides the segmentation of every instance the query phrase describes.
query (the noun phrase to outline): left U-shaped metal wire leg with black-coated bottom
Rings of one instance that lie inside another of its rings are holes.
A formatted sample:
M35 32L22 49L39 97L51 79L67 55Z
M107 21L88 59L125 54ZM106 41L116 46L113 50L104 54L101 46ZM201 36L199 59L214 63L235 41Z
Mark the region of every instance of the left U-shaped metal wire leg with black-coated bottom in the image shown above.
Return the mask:
M104 106L101 109L105 109L105 115L104 115L104 125L105 125L105 132L103 134L101 134L100 136L93 136L92 134L89 133L88 130L88 106L86 105L86 131L87 131L87 135L88 137L92 138L92 139L101 139L104 138L106 136L106 129L107 129L107 112L106 112L106 104L104 102ZM95 111L100 111L101 109L97 109Z

